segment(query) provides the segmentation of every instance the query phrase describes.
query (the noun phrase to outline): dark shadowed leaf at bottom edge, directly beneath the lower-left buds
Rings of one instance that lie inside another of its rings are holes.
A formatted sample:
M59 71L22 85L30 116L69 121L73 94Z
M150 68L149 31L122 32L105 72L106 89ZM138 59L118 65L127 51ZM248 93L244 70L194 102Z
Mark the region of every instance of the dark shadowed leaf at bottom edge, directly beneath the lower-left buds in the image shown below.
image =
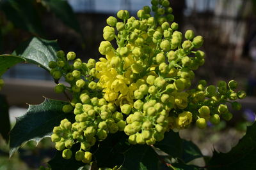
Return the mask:
M71 159L63 159L62 152L57 151L54 158L48 162L49 165L51 166L51 169L52 170L58 170L58 169L61 169L61 170L77 170L81 166L84 166L83 162L77 161L75 159L75 153L79 149L80 149L80 145L78 143L76 145L72 146L71 150L72 150L73 154L72 154ZM85 167L85 169L86 168L87 168L87 166Z

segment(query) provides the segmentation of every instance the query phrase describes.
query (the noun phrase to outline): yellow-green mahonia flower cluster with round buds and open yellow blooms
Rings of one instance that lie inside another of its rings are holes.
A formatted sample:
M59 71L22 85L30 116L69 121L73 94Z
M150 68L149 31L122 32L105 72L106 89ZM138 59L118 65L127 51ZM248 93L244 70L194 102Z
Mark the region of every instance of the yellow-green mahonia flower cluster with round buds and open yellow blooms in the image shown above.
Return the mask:
M52 142L63 158L70 159L70 148L80 143L74 154L87 164L92 160L90 148L109 133L124 131L132 145L154 145L164 132L185 129L193 122L204 129L208 121L230 120L226 103L241 109L236 99L246 94L235 91L234 80L216 86L200 80L190 88L194 71L205 62L205 53L197 50L204 39L192 30L177 31L169 1L151 3L151 8L138 11L138 18L120 10L117 18L106 20L99 46L104 57L98 62L85 63L76 53L63 51L57 52L56 62L49 62L54 80L63 77L69 83L58 83L55 92L72 94L63 112L74 114L76 120L72 124L64 119L52 131Z

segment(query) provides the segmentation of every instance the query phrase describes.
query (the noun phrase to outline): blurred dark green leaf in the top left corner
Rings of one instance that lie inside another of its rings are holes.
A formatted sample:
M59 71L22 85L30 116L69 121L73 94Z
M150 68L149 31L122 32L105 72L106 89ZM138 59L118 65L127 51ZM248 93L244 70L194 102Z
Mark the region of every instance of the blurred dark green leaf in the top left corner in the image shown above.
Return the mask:
M7 0L3 1L2 10L16 27L42 36L44 31L35 5L33 0Z

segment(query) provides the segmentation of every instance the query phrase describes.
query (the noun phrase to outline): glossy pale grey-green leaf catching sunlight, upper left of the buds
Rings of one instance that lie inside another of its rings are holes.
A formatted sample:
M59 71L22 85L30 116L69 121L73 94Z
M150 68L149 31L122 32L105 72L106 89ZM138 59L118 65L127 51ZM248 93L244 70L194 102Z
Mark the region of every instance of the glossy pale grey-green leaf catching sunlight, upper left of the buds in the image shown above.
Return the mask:
M24 41L14 52L13 55L20 56L26 62L36 64L50 71L48 66L50 61L56 61L56 52L60 50L57 41L34 37Z

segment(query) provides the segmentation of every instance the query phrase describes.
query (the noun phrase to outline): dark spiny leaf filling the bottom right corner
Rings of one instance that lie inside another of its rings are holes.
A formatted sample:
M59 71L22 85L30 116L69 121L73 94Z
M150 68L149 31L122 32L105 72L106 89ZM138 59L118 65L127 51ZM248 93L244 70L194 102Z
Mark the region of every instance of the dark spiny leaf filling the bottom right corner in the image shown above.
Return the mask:
M214 151L207 169L255 169L256 124L247 127L246 135L228 153Z

